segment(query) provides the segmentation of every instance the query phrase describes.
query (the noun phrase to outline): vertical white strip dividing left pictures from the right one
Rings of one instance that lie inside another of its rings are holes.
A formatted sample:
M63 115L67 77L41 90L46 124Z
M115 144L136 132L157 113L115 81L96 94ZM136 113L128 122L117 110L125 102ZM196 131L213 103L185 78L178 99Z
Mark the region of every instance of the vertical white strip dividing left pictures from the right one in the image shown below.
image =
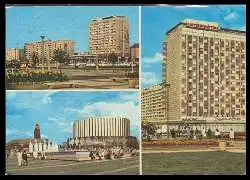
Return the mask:
M141 141L141 49L142 49L142 43L141 43L141 6L139 8L139 142L140 142L140 175L142 175L142 141Z

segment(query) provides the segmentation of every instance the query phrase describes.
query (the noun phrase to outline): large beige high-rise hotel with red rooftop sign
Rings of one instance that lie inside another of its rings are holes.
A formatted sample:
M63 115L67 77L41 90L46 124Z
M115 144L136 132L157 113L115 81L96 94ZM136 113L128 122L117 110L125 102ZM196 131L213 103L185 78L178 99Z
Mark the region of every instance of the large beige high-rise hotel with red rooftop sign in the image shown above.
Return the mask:
M244 129L246 33L186 19L167 32L166 43L169 120L206 120Z

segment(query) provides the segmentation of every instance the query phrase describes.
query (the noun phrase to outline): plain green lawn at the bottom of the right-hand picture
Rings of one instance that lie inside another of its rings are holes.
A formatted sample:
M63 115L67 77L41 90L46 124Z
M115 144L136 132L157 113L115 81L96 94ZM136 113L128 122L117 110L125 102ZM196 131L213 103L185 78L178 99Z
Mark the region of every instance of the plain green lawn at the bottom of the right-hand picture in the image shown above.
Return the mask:
M142 174L244 174L245 153L178 152L142 155Z

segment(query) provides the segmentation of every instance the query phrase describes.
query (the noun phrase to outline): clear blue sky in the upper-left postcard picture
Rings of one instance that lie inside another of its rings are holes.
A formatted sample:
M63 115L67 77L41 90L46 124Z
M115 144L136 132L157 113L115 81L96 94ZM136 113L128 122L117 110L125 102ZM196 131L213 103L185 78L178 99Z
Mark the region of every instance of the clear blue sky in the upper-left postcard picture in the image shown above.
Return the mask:
M129 18L130 44L139 41L139 10L132 6L34 6L6 8L6 47L38 41L73 39L76 49L88 50L88 24L96 17L121 15Z

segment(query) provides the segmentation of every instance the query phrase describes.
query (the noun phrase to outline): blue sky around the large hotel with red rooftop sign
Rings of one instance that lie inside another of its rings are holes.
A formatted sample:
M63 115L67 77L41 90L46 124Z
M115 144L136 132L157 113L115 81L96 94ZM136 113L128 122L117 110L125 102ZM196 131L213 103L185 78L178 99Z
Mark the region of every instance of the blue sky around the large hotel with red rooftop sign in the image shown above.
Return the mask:
M142 87L162 80L165 33L184 19L215 21L224 28L246 30L245 6L142 7Z

